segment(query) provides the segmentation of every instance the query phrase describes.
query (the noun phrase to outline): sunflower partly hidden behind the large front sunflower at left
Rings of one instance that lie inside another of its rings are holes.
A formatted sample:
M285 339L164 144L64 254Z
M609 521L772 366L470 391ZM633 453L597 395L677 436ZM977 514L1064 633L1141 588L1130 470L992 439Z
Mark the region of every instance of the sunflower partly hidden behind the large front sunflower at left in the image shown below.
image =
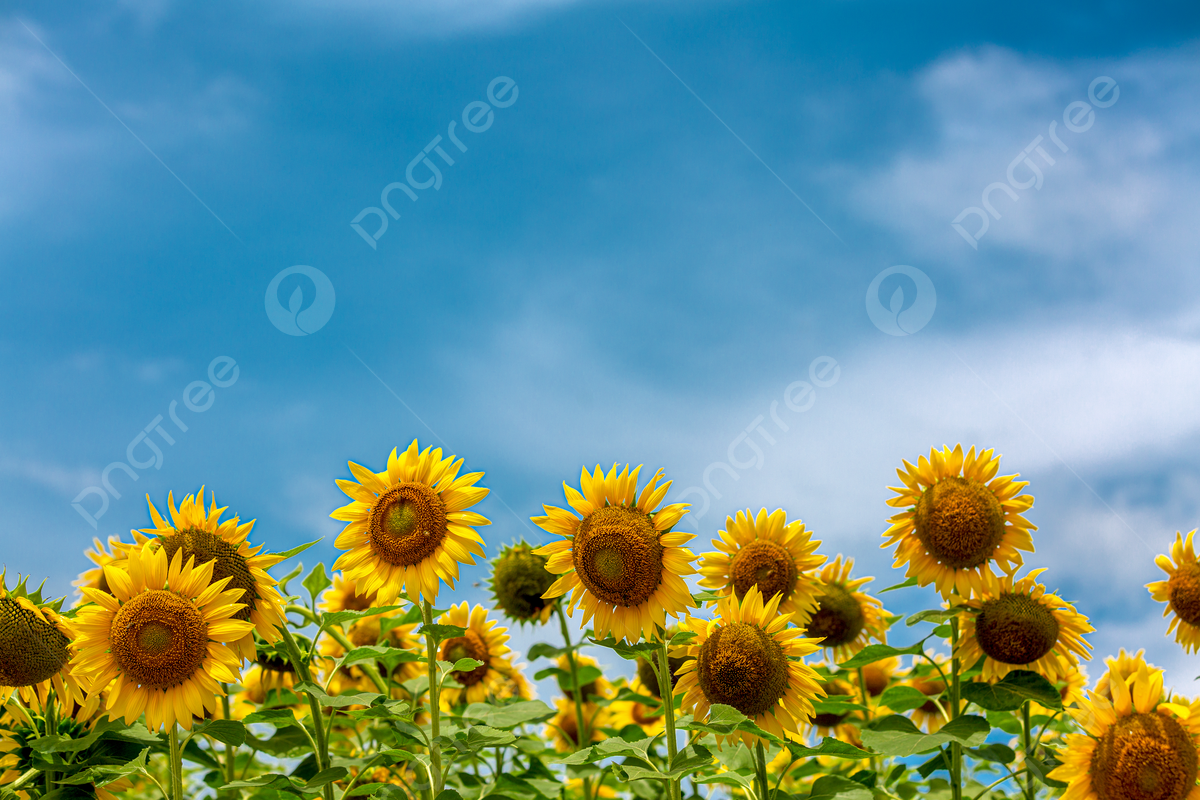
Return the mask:
M234 643L233 648L242 661L256 657L254 633L266 642L278 642L278 627L283 621L283 597L276 589L276 581L266 570L283 560L280 555L263 553L263 546L250 546L250 534L254 521L242 523L238 516L221 522L221 515L228 506L217 507L215 493L210 493L209 510L204 510L204 487L196 494L188 494L175 507L173 493L167 494L167 511L170 522L162 518L158 510L146 497L150 505L150 519L154 528L132 531L137 543L143 547L161 547L170 561L175 553L182 553L184 561L196 558L199 566L212 561L212 581L229 578L229 589L241 589L238 602L242 608L234 619L253 622L252 632L246 633ZM154 537L150 539L146 535Z

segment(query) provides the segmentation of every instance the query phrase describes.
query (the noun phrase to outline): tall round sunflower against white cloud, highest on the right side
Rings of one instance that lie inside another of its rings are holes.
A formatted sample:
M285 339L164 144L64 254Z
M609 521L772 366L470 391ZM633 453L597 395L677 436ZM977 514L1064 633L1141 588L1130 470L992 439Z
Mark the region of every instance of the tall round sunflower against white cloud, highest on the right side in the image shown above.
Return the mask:
M906 510L888 521L881 547L895 545L893 566L907 565L907 577L922 587L935 584L943 597L977 594L994 575L992 561L1010 573L1022 564L1019 551L1033 552L1030 531L1037 527L1021 516L1033 497L1018 494L1028 481L996 477L1000 456L994 452L932 449L916 467L904 462L905 469L896 470L904 486L890 487L899 497L888 505Z

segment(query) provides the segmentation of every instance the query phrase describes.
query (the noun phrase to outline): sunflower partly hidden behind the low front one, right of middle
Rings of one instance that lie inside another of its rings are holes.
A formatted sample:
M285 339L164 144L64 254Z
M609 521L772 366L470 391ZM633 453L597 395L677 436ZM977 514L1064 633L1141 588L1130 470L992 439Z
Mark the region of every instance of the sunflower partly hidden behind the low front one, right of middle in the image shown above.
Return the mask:
M700 585L715 589L738 600L750 587L758 587L766 599L781 596L779 610L792 614L803 625L817 609L823 591L815 570L826 563L816 549L820 541L796 519L787 522L782 509L754 516L750 509L725 518L725 530L718 531L713 547L700 559Z

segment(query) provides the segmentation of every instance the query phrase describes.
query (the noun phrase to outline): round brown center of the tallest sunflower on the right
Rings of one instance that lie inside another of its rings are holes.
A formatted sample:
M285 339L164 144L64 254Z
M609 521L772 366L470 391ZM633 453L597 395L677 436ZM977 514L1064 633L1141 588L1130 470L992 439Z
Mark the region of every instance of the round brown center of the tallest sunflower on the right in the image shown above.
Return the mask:
M947 477L922 493L913 528L938 561L970 570L990 559L1004 537L1004 509L979 481Z

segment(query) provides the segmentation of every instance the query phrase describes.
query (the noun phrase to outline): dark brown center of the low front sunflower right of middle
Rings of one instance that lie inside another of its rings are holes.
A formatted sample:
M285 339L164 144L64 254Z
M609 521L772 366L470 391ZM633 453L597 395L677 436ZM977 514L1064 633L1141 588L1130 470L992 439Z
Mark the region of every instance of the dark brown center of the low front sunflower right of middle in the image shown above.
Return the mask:
M732 705L748 717L769 711L787 691L787 657L769 633L749 622L716 628L700 648L696 674L709 703Z

